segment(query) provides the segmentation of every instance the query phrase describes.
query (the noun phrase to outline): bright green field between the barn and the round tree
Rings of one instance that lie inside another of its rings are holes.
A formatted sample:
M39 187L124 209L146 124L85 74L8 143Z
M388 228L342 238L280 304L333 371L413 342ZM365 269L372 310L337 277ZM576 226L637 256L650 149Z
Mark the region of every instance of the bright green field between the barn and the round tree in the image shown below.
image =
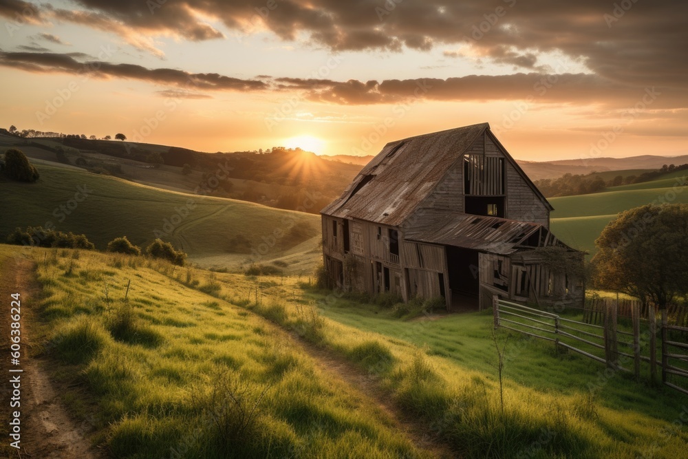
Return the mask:
M594 255L594 240L620 212L655 202L688 203L687 171L663 175L659 180L614 186L603 193L550 198L552 232L563 242Z

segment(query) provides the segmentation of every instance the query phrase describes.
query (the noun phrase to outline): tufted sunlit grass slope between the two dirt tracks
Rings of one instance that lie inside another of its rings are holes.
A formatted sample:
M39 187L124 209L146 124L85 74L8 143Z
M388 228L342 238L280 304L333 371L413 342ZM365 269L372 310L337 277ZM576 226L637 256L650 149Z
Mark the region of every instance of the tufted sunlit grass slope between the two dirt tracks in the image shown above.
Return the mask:
M114 457L424 456L288 333L202 292L213 273L0 246L5 269L18 251L43 288L34 353L58 362L63 402Z

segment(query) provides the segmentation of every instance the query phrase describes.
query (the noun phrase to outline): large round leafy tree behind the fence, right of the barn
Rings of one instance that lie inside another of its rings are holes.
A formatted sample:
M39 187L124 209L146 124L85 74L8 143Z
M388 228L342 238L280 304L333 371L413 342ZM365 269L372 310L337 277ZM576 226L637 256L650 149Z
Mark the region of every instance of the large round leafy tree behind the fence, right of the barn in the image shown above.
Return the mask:
M688 204L647 204L619 214L595 241L594 284L660 309L687 295L687 222Z

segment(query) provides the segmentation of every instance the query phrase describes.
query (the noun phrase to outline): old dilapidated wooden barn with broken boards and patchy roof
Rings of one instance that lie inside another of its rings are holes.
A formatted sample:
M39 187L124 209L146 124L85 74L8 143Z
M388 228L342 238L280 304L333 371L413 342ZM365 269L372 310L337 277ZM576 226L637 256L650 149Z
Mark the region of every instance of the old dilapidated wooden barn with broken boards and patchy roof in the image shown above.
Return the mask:
M390 142L321 211L333 287L543 306L583 301L583 253L549 231L552 206L487 123Z

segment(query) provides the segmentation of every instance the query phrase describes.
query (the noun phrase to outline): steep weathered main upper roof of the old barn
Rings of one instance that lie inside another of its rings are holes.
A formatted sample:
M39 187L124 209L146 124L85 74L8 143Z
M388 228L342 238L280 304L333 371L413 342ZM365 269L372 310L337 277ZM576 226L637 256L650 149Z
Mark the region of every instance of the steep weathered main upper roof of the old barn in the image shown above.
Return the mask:
M321 213L400 226L473 142L489 129L490 125L484 122L389 142ZM508 153L506 156L549 206L516 162Z

